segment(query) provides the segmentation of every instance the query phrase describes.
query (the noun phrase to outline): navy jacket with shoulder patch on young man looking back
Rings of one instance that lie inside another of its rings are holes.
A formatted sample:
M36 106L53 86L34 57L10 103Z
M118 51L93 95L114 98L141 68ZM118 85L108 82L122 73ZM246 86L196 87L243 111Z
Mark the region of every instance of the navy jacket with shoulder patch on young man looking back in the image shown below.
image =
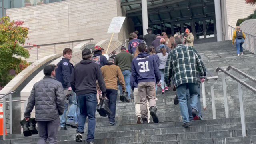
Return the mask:
M57 66L58 68L55 70L56 79L62 83L63 88L71 87L70 76L74 69L73 64L71 64L68 59L62 58Z

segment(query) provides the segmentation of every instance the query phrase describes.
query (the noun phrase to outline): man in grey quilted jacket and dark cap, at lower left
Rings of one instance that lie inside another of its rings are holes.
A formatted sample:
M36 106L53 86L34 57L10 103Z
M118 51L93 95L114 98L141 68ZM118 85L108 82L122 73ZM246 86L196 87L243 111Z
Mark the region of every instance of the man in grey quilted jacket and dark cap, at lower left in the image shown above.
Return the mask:
M38 144L57 144L57 131L60 124L59 115L64 112L65 101L62 84L54 78L55 65L44 67L44 78L34 84L28 98L28 104L24 112L26 121L30 120L30 114L35 106L36 121L38 126Z

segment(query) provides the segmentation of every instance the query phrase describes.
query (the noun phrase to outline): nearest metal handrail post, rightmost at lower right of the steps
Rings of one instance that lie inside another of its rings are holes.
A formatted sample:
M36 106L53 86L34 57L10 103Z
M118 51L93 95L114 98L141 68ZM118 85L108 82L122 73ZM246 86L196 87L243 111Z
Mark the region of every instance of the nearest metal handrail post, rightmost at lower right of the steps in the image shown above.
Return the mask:
M242 135L246 136L246 125L245 125L245 116L244 116L244 100L243 100L243 90L242 84L238 83L238 94L239 94L239 105L240 105L240 116L241 116L241 125L242 125Z

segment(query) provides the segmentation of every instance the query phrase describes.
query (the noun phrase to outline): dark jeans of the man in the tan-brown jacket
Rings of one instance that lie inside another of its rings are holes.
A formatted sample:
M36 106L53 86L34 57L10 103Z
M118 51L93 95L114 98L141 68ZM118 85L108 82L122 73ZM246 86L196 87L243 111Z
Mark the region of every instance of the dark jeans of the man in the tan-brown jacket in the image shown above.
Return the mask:
M110 115L108 115L108 120L110 122L115 122L116 117L116 99L117 99L117 90L107 89L107 98L109 99L109 109L111 110Z

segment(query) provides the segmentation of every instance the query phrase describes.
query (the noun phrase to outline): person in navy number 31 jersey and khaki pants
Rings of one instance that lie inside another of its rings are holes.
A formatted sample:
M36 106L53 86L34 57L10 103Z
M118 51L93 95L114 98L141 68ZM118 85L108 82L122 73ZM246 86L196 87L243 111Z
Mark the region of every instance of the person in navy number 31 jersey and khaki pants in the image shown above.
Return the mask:
M158 64L153 56L150 56L144 44L138 46L140 54L132 60L132 76L134 82L138 84L140 94L140 110L143 124L148 123L147 100L149 101L150 115L154 123L158 123L156 115L156 82L161 80Z

